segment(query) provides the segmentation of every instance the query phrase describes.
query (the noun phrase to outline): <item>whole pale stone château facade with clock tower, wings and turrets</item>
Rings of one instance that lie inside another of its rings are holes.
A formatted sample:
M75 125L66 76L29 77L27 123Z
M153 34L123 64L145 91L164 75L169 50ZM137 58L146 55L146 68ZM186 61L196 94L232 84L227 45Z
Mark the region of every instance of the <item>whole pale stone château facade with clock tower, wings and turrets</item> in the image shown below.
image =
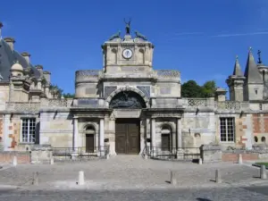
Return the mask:
M103 69L76 71L75 97L65 99L49 88L50 72L33 66L29 54L13 51L13 41L1 39L0 47L0 139L5 151L50 145L99 155L109 146L116 155L124 154L124 148L141 154L147 146L153 151L209 144L251 149L266 143L266 77L258 74L266 67L255 64L251 50L245 76L237 59L227 80L230 100L222 88L211 98L184 98L180 71L154 70L151 42L138 34L113 36L102 46ZM121 120L128 123L121 126ZM130 134L120 134L121 128Z

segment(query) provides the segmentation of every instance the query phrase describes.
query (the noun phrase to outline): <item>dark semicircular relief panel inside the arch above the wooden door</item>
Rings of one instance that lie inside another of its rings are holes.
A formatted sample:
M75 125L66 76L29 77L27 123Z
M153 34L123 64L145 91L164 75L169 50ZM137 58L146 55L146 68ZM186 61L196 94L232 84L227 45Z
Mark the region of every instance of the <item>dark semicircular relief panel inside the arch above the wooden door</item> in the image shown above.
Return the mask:
M146 108L146 103L137 93L132 91L122 91L113 97L110 103L110 108L141 109Z

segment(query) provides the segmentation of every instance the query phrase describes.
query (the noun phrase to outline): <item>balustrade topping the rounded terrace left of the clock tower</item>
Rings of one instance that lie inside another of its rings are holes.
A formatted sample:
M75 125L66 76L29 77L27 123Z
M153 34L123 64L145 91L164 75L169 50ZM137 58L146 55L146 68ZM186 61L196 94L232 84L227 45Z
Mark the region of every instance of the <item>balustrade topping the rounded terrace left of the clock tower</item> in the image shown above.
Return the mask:
M102 71L98 70L80 70L75 72L75 82L98 80L102 76Z

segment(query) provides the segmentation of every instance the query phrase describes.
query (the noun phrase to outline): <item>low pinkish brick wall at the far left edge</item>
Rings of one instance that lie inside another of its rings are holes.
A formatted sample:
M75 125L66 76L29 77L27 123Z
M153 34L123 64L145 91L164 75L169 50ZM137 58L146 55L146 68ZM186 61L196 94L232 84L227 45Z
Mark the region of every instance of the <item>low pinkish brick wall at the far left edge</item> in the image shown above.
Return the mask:
M0 163L13 163L14 155L18 164L29 164L31 161L29 152L0 152Z

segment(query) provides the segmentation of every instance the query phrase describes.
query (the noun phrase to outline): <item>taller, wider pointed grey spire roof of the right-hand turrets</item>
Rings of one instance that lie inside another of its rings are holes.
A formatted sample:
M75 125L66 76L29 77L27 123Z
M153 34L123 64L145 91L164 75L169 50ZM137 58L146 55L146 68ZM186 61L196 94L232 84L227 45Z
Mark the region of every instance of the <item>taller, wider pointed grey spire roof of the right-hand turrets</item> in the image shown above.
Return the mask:
M255 64L254 57L251 51L248 53L247 66L245 75L246 82L252 84L264 84L262 76L260 75L257 65Z

